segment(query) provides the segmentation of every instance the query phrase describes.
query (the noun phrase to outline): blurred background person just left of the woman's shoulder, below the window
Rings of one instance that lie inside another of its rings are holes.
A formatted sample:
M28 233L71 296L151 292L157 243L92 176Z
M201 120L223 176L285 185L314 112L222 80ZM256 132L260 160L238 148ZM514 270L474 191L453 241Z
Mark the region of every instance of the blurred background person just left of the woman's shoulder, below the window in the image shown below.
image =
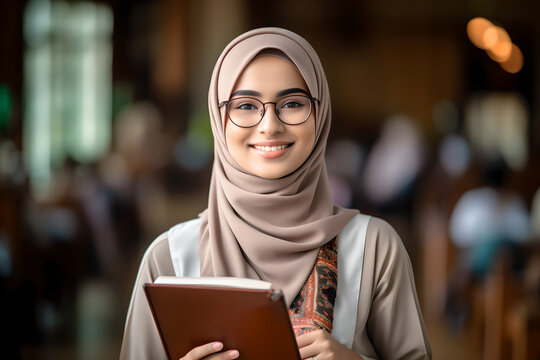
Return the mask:
M106 269L119 263L119 254L138 251L151 239L149 234L162 228L154 214L166 207L160 171L170 160L162 116L149 102L132 103L118 114L113 144L113 150L88 169L92 175L81 177L78 189Z

